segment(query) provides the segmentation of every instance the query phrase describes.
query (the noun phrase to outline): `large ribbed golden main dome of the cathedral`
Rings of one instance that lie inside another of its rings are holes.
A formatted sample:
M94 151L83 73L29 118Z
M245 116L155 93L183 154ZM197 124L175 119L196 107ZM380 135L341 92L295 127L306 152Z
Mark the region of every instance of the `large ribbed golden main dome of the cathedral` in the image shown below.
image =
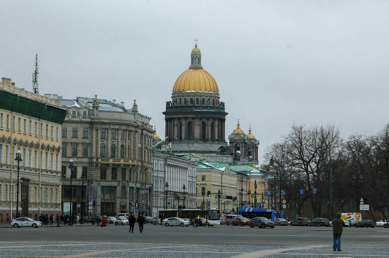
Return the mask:
M202 68L189 68L178 76L173 87L173 92L186 91L218 93L219 88L209 72Z

